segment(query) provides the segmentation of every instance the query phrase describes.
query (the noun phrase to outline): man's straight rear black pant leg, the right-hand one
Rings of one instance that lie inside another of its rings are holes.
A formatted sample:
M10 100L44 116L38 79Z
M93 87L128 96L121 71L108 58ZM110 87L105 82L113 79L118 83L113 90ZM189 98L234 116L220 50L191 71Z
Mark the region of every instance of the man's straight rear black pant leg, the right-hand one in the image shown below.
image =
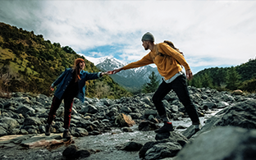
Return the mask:
M188 112L193 125L199 125L199 116L195 109L194 103L190 98L188 87L186 84L185 75L180 75L171 82L171 88L176 92L181 103L184 105L186 112Z

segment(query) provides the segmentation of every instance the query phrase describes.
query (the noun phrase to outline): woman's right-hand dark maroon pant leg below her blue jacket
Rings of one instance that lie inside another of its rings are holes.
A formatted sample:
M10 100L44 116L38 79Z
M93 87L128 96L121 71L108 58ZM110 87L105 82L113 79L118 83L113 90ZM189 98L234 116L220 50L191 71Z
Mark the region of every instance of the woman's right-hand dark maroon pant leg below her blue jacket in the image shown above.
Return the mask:
M64 128L69 129L71 125L71 112L74 98L64 98Z

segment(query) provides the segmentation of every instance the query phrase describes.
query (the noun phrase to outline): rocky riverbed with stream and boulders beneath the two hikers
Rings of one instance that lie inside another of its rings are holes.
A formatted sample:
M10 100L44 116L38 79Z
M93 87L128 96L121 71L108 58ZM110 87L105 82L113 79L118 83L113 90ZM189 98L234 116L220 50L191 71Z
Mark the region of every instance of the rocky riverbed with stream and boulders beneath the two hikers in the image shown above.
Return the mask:
M62 139L63 104L53 134L46 137L52 98L27 93L0 98L0 159L254 159L256 95L189 90L203 125L196 134L185 125L190 123L185 107L170 92L163 103L176 127L173 132L153 132L162 125L153 94L137 94L116 100L86 98L85 103L75 99L71 140ZM217 114L208 117L213 112Z

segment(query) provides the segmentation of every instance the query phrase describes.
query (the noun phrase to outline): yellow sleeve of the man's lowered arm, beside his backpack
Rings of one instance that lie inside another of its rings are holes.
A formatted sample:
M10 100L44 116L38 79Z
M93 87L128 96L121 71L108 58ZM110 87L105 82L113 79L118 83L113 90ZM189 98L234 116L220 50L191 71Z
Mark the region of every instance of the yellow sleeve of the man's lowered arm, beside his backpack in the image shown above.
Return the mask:
M171 48L166 43L159 43L158 45L159 48L161 48L164 53L166 53L168 56L175 58L178 62L180 62L181 65L185 67L185 70L190 69L189 64L185 61L185 58L181 55L181 53L178 53L175 49Z

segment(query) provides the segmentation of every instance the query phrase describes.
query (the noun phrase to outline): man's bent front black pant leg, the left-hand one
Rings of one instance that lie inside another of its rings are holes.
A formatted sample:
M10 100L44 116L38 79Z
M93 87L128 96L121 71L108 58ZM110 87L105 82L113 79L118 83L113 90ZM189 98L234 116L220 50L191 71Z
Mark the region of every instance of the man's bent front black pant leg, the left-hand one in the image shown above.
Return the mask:
M163 103L162 103L162 98L164 98L170 91L171 91L171 88L167 85L165 81L162 81L157 91L153 94L153 98L152 98L153 104L157 108L158 115L160 117L167 115L166 108L163 106Z

